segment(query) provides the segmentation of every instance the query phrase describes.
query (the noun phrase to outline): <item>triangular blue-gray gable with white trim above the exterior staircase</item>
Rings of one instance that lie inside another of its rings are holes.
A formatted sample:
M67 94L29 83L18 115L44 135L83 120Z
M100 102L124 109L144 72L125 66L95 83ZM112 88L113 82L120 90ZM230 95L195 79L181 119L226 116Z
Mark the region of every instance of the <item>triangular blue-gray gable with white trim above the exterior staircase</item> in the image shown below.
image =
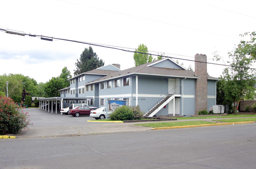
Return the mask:
M167 68L167 69L177 69L177 70L187 70L176 62L172 61L169 58L161 59L158 62L149 64L148 67L157 67L157 68Z

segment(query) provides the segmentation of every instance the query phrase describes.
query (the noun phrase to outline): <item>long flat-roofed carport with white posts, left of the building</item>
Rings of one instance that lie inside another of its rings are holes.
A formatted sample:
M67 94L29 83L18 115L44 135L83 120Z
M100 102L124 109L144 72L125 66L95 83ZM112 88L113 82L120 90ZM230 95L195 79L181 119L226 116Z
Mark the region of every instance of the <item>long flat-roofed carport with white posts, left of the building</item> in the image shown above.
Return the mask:
M39 100L39 107L43 110L47 110L48 106L48 112L50 112L50 103L52 103L52 113L53 113L53 105L55 103L55 109L57 114L57 105L58 102L60 103L60 109L63 108L63 101L85 101L87 99L93 99L93 97L48 97L48 98L42 98ZM45 105L43 105L45 104ZM41 105L43 105L41 107Z

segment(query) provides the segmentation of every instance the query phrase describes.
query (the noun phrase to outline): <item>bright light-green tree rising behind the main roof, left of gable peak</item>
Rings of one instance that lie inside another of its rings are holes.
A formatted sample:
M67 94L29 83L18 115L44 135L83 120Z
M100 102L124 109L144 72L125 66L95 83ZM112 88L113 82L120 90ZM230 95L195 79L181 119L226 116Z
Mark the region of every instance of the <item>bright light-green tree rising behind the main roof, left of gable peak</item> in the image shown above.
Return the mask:
M137 53L137 52L141 52L141 53ZM145 53L147 53L147 54L145 54ZM134 53L135 66L149 63L149 62L152 62L155 60L156 59L153 59L152 55L148 54L147 46L145 44L139 44L138 48L135 50L135 53Z

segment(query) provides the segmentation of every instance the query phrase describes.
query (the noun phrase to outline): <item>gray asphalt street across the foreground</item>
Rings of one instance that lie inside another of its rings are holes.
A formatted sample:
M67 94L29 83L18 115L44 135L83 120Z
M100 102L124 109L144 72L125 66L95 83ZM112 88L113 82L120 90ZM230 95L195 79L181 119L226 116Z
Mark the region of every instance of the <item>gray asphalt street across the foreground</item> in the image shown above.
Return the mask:
M0 169L254 169L256 124L0 140Z

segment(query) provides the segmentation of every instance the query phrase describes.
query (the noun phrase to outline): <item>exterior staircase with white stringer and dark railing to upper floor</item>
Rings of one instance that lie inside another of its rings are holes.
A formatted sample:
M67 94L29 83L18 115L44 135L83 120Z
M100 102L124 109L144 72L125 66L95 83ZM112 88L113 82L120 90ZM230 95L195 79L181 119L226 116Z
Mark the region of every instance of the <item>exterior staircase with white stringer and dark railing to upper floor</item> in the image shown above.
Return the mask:
M174 94L180 93L180 86L174 86L172 90L170 90L164 97L162 97L158 102L148 109L148 112L144 115L144 117L153 117L157 112L159 112L159 110L161 110L165 105L175 98Z

